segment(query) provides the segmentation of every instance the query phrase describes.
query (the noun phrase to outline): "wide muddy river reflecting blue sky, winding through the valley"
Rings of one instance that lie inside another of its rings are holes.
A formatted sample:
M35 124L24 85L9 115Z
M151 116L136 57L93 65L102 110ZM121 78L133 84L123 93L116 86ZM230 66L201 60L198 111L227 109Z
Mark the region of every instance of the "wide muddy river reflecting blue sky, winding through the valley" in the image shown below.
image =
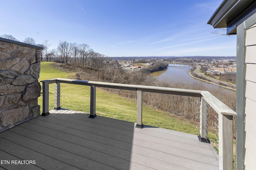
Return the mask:
M202 83L202 85L208 89L217 89L223 90L224 92L236 93L234 90L220 87L191 77L189 75L189 70L191 68L191 65L169 64L167 69L163 71L155 71L151 73L151 75L156 77L158 80L166 81L169 83Z

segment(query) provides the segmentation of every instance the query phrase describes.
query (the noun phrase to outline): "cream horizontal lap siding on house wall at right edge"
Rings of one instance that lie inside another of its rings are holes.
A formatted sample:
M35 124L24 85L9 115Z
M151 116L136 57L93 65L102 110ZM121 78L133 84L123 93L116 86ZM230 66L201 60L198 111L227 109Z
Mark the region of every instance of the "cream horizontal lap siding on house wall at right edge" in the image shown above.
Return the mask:
M256 160L256 26L246 30L246 124L245 158L246 169L254 169Z

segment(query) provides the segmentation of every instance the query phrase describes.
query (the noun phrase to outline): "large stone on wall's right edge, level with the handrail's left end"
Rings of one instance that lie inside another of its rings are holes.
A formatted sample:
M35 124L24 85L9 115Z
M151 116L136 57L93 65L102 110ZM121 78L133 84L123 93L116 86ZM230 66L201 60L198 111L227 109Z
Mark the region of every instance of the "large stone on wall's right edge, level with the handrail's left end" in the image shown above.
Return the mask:
M26 93L23 95L23 101L30 101L36 99L40 96L41 85L39 82L35 82L31 85L28 85L26 88Z

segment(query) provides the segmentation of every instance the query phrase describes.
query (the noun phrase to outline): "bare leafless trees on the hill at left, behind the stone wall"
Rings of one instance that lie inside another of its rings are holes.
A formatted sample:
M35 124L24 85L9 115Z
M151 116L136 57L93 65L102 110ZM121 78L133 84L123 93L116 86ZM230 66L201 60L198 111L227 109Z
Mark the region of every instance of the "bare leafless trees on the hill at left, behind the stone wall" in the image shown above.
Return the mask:
M20 42L12 35L3 34L0 35L0 37ZM51 44L48 40L44 40L44 42L36 44L36 41L33 38L28 37L25 38L23 42L44 48L42 50L41 61L54 61L66 63L66 65L71 64L94 68L101 68L105 63L109 62L109 57L95 52L85 43L77 44L60 40L57 48L50 49L49 47Z

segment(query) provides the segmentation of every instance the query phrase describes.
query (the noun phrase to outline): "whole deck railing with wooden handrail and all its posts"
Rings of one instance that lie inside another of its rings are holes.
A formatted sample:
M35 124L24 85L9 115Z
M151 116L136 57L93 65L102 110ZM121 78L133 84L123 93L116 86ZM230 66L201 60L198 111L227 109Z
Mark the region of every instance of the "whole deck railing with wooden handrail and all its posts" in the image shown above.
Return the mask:
M144 85L128 85L119 83L104 83L98 81L83 81L74 79L49 79L41 81L43 85L43 116L49 114L49 84L55 83L55 104L54 109L60 109L60 83L90 86L90 117L96 117L96 87L125 89L137 91L137 123L136 127L143 127L142 124L142 92L164 93L172 95L184 95L200 97L200 141L208 141L208 106L210 105L218 113L219 129L219 169L233 170L233 116L236 112L214 97L208 91L176 89L168 87L154 87ZM207 167L206 167L207 169Z

